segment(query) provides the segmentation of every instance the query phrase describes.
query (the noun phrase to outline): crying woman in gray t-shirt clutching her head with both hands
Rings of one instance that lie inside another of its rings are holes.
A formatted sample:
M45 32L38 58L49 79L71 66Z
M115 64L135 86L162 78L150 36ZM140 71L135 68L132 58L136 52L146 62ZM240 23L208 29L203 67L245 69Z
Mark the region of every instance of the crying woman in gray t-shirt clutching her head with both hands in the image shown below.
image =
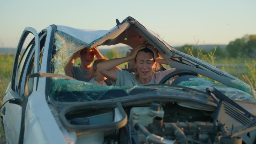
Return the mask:
M113 67L131 60L134 64L136 73L113 70ZM168 64L165 59L159 58L158 52L152 46L141 45L132 50L126 57L100 62L97 65L97 68L104 76L114 82L113 85L142 86L159 83L164 76L175 70L154 72L156 62L160 64Z

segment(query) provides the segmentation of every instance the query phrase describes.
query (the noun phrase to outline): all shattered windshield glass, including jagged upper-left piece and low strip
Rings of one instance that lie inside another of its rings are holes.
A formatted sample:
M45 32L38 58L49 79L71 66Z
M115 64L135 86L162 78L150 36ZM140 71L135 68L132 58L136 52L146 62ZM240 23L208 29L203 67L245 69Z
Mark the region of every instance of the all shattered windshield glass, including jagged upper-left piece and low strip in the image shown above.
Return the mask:
M56 50L54 57L52 58L52 63L54 64L54 73L65 75L64 67L70 56L73 55L73 53L77 50L82 48L90 48L90 46L88 43L83 42L82 40L76 39L62 31L57 30L54 34L54 48ZM251 88L248 84L235 80L232 80L232 83L232 88L230 88L198 77L181 82L178 86L185 86L203 92L205 92L206 88L212 89L212 86L214 86L231 99L255 101L252 96ZM134 87L101 86L78 80L51 78L51 96L55 101L60 102L98 101L151 91L185 93L184 89L182 88L172 88L163 85Z

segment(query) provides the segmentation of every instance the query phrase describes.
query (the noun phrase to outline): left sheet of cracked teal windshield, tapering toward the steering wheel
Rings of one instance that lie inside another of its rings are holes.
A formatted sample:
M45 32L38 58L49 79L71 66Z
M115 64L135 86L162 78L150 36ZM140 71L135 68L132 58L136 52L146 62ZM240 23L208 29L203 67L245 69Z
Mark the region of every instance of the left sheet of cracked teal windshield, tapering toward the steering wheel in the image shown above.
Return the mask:
M155 90L138 86L103 86L79 80L51 79L51 95L55 101L61 102L98 101Z

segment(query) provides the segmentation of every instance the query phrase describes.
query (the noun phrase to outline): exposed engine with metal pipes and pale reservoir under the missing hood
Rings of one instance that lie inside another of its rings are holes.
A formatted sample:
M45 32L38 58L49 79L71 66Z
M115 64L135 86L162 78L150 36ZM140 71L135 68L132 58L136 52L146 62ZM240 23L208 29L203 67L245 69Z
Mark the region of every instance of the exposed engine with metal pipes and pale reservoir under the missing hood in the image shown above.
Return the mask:
M213 121L213 112L193 110L177 104L168 104L164 108L157 103L152 103L150 107L131 108L129 122L137 133L132 136L131 142L134 143L137 138L139 143L212 144L218 141L215 140L216 136L229 135L225 125L217 123L215 128L210 122ZM239 140L235 139L236 142Z

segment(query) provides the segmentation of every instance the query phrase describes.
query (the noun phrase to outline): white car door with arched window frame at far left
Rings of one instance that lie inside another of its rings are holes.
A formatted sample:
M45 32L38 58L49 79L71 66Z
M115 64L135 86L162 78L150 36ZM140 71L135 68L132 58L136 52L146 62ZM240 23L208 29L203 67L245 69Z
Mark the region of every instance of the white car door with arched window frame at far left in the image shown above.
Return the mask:
M13 69L12 69L12 80L10 82L10 87L7 89L7 93L4 95L3 102L9 101L9 103L6 103L4 105L4 114L1 114L4 121L4 129L5 132L7 132L7 135L13 135L12 137L6 137L7 143L18 143L18 138L21 131L21 126L24 126L24 122L22 122L22 117L24 117L24 114L22 114L22 95L19 93L18 85L21 79L19 79L18 82L18 65L19 65L19 56L22 52L22 47L24 46L25 40L27 40L28 34L33 34L34 36L34 42L33 39L31 40L30 44L27 46L28 55L27 57L24 57L25 59L30 59L31 55L33 55L33 51L35 51L34 54L34 72L39 71L39 50L40 50L40 40L39 35L37 34L37 31L34 28L26 27L21 35L21 38L19 40L17 51L15 55L15 59L13 62ZM34 43L34 44L33 44ZM30 47L31 45L31 47ZM30 58L28 58L30 57ZM24 65L21 65L22 71L24 71L24 67L26 67L27 62L24 62ZM23 73L24 74L24 73ZM21 76L22 77L22 76ZM34 79L34 83L37 83L37 79ZM33 88L34 91L34 88ZM11 100L10 99L14 99ZM16 100L19 99L19 100ZM9 115L9 116L8 116ZM5 117L7 116L7 117ZM9 119L9 120L8 120ZM12 119L12 120L10 120ZM10 122L8 122L10 121Z

